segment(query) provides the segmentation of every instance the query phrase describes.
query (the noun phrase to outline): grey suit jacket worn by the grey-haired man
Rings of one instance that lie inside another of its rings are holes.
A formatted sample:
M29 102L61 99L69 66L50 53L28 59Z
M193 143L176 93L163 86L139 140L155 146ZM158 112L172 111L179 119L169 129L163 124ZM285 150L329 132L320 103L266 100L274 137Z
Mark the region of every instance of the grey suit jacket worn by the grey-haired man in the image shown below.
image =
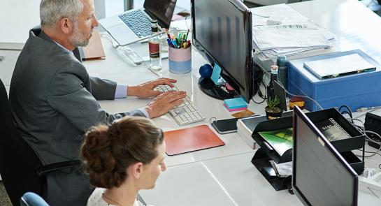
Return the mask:
M57 45L41 29L32 29L10 82L10 105L18 131L43 163L78 159L85 131L139 110L110 115L97 100L113 99L116 83L90 78L73 52ZM76 170L48 175L52 205L85 205L91 189Z

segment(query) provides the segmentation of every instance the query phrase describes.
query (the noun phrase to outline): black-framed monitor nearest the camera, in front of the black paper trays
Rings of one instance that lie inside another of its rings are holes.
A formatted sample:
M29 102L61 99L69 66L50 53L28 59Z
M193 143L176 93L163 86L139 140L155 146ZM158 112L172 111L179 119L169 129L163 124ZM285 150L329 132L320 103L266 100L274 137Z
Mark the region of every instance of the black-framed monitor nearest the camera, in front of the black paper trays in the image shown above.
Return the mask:
M304 205L357 205L358 177L296 106L292 189Z

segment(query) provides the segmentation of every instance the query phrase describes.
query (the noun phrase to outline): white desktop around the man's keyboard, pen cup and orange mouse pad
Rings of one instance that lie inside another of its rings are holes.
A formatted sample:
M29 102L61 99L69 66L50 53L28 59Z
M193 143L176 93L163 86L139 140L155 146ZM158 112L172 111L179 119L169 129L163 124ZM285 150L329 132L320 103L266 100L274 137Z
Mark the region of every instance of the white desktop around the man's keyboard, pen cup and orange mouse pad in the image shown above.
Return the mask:
M158 78L157 75L148 71L145 66L130 66L126 59L120 56L116 50L110 44L107 38L102 38L103 47L106 52L106 60L103 61L85 61L87 71L89 75L98 76L101 78L107 78L110 80L116 80L120 83L126 84L138 84L148 80L154 80ZM136 52L141 55L148 55L147 43L141 45L134 45ZM163 76L168 78L174 78L178 80L178 87L187 91L187 95L195 103L196 107L206 117L203 122L190 124L188 126L178 126L172 117L164 115L162 117L154 119L155 124L167 130L173 130L178 128L186 128L190 126L196 126L199 124L208 124L210 117L216 117L217 119L231 118L230 112L228 112L223 106L223 101L215 98L210 98L203 94L199 89L197 80L199 79L199 66L205 64L206 61L195 51L192 51L192 68L191 73L186 74L173 74L168 72L168 59L163 60ZM149 103L151 99L139 99L139 98L127 98L117 99L115 101L100 101L101 107L108 112L123 112L140 108ZM264 105L250 105L250 110L254 112L264 113ZM206 159L214 159L223 156L231 156L234 154L244 154L252 152L253 150L248 147L245 142L240 140L236 133L220 135L220 138L226 145L222 147L215 147L212 149L205 149L198 152L191 152L187 154L180 154L175 156L168 156L166 158L166 164L180 165L184 163L191 163L194 161L202 161Z

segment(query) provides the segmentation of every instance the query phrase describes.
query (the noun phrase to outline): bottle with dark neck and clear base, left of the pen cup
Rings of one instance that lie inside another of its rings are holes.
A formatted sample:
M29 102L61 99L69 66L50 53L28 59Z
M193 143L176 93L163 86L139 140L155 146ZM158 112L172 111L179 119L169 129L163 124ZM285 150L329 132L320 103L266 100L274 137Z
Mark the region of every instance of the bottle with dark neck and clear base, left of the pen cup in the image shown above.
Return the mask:
M151 20L151 36L148 41L150 51L150 68L154 71L161 70L161 44L157 20Z

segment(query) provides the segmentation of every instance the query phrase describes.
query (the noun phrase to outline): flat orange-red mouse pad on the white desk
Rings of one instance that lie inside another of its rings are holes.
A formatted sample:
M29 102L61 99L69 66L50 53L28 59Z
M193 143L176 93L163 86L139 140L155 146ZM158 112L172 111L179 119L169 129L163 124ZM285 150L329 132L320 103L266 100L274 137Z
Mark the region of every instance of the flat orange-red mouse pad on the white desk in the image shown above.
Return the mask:
M175 155L225 145L207 125L164 132L166 154Z

